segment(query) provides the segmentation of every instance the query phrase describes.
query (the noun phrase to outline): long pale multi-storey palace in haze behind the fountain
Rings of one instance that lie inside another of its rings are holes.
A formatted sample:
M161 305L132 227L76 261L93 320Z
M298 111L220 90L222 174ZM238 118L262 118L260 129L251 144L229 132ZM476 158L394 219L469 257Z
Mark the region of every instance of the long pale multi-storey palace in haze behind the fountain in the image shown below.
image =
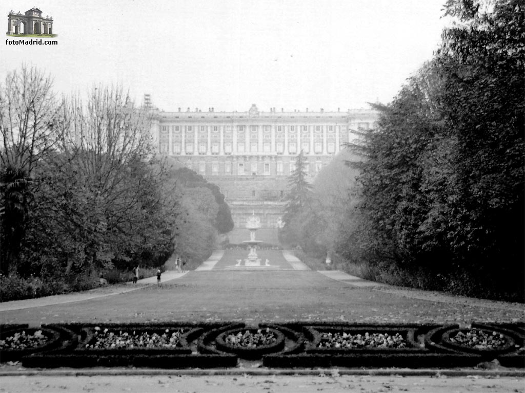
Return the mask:
M147 100L151 105L149 96ZM275 243L287 177L299 152L307 156L313 178L355 138L352 130L368 129L376 118L373 110L265 112L255 104L247 112L178 108L153 110L152 132L161 153L220 187L235 222L230 242L249 238L246 219L255 212L261 220L258 239Z

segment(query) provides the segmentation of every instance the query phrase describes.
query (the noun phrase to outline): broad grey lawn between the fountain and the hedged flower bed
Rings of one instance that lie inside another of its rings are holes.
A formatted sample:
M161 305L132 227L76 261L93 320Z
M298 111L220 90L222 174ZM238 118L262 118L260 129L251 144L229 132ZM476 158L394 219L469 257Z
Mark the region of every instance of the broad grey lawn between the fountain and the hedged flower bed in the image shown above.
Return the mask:
M234 261L235 265L235 261ZM312 270L190 271L127 293L22 310L1 323L337 320L351 322L523 321L523 309L411 299Z

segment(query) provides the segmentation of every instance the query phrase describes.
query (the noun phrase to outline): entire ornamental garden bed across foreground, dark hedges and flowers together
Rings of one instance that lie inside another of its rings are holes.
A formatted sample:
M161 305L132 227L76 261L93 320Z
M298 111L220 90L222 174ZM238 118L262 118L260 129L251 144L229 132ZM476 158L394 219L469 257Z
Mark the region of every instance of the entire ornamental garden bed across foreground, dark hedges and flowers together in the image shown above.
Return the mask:
M2 362L25 367L525 367L519 326L293 322L65 324L6 329Z

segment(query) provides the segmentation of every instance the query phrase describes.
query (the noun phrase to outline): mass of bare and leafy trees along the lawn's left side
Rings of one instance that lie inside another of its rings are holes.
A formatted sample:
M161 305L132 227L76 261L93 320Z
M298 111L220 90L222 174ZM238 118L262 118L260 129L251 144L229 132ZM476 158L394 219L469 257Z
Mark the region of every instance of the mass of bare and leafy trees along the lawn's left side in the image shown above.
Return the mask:
M207 258L233 228L224 195L194 172L172 176L148 108L119 87L93 86L85 102L51 87L27 67L0 85L2 298L91 288L100 272L119 282L173 252Z

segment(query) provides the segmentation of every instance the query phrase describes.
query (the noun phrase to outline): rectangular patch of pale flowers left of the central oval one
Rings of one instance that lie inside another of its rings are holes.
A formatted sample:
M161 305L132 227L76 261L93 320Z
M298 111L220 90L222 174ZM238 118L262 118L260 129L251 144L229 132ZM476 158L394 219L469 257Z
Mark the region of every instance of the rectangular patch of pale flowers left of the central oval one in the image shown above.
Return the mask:
M95 334L87 349L97 348L175 348L181 347L183 329L166 329L164 333L148 333L141 331L110 331L95 327Z

